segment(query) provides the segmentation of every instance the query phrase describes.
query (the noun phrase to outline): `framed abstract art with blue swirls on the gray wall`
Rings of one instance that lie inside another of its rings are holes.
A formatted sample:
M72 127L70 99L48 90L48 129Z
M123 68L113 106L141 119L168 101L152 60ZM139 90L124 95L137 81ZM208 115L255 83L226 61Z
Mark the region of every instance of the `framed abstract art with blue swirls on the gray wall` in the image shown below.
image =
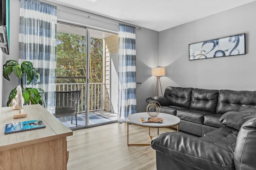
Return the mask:
M245 33L188 45L189 60L245 54Z

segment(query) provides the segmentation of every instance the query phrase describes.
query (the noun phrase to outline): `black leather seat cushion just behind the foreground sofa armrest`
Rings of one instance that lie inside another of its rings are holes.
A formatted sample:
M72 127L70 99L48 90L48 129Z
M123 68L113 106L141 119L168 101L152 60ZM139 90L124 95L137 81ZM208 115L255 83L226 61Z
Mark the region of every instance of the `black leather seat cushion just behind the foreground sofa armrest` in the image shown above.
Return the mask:
M217 145L228 152L234 152L238 132L235 129L224 126L204 134L204 137L200 137L199 139Z

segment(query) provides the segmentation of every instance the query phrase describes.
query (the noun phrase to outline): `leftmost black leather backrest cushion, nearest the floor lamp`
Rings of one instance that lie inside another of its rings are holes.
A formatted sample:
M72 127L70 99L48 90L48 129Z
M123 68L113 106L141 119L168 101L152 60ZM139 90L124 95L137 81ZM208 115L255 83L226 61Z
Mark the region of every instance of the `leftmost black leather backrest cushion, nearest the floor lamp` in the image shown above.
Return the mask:
M170 99L172 106L190 107L191 92L193 88L167 87L164 96Z

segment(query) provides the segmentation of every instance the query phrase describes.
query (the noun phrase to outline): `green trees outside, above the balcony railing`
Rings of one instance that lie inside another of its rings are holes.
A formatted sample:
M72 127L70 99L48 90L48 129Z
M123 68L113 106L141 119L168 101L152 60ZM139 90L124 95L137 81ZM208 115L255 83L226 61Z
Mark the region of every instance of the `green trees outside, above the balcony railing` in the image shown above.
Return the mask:
M57 32L56 76L86 77L86 37ZM103 40L90 38L90 82L102 82ZM57 79L57 83L84 83L86 79Z

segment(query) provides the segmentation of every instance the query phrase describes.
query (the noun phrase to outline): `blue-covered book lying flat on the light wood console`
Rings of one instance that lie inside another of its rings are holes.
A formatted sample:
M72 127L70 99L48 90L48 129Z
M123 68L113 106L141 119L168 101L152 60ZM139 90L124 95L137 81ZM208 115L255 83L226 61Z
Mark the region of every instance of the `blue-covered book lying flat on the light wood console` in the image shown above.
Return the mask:
M28 131L32 129L40 129L44 127L45 127L44 122L41 119L22 121L22 122L16 122L16 123L8 123L5 125L4 134Z

